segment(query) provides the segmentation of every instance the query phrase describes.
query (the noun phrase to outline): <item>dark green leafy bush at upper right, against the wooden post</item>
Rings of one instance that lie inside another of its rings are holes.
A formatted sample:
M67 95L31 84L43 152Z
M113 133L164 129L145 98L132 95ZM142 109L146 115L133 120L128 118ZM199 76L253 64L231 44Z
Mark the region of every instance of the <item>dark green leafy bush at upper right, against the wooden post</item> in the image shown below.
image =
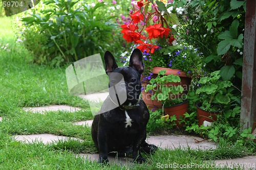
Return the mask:
M207 71L221 70L223 80L241 87L245 1L174 1L179 38L199 48Z

